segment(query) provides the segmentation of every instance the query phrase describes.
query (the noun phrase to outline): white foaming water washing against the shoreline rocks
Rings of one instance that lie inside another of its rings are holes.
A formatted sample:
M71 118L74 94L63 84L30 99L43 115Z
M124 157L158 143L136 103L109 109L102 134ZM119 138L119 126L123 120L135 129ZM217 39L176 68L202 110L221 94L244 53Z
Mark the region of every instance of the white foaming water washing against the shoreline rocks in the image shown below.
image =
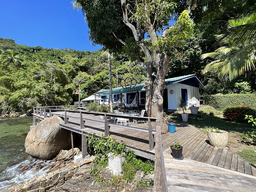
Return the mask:
M53 163L52 161L37 160L29 157L19 164L7 167L7 169L0 174L0 190L15 184L27 182L36 176L47 173L49 166ZM43 168L33 172L34 168L38 165L42 165Z

